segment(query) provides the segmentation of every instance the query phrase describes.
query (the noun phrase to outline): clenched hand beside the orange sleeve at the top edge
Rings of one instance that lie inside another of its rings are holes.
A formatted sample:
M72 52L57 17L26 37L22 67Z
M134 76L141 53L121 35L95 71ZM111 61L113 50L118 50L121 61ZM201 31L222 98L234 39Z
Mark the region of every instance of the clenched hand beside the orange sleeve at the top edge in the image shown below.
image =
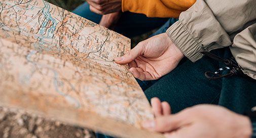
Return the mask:
M122 10L122 0L86 0L90 10L96 14L110 14Z

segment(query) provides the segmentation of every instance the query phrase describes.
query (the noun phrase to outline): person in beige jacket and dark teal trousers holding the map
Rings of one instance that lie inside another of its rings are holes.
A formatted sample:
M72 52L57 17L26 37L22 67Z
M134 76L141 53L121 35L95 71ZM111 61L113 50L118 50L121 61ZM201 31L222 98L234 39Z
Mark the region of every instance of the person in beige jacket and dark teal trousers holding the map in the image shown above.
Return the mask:
M197 0L167 30L115 59L128 64L134 77L157 80L145 83L144 93L148 100L168 103L157 109L166 116L156 115L145 128L168 138L255 136L255 122L242 115L256 105L255 5L254 0Z

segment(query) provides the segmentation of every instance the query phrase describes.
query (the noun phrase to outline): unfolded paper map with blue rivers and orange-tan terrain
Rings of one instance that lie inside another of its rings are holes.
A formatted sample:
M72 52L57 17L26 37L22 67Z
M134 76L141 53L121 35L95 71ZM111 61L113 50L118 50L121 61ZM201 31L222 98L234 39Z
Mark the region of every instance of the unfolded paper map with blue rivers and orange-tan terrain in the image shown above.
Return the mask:
M139 126L154 117L150 104L113 61L129 49L130 39L43 0L1 0L0 103L99 130L104 117Z

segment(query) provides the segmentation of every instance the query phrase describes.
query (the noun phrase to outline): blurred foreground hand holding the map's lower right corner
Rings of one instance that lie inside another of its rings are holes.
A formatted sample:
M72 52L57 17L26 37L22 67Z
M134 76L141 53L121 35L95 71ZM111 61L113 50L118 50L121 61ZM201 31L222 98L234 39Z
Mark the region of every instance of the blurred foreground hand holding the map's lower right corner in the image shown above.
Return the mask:
M167 138L249 138L252 128L249 118L221 106L199 105L177 114L158 98L151 100L155 120L146 121L144 128L163 132Z

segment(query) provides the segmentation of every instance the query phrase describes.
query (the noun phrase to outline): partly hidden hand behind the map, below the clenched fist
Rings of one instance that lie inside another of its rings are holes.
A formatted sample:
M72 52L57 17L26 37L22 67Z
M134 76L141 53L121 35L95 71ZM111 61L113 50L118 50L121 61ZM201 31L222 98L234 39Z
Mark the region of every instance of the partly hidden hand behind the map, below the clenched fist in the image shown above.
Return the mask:
M104 26L109 29L114 29L116 23L118 22L122 12L116 12L112 14L103 15L99 25Z

